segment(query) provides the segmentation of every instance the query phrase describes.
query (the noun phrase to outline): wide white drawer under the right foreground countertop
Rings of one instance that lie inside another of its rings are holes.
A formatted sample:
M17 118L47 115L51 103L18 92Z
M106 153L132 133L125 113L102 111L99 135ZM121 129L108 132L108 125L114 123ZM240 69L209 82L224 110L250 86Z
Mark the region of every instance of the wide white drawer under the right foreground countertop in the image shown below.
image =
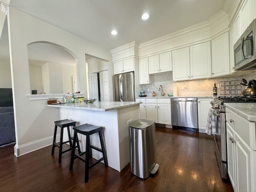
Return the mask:
M230 109L226 108L226 121L235 132L252 148L256 150L255 123L250 122Z

